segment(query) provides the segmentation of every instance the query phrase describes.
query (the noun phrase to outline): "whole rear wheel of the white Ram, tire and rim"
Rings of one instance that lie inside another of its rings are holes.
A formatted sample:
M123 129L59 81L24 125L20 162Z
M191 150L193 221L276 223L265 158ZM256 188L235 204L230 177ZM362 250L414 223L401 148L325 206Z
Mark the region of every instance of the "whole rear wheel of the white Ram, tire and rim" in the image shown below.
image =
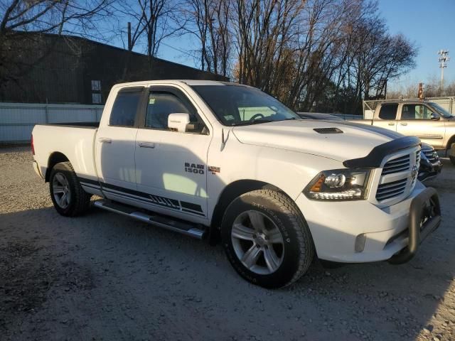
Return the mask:
M52 168L49 190L55 210L60 215L75 217L84 214L90 207L91 195L82 189L69 162L57 163Z

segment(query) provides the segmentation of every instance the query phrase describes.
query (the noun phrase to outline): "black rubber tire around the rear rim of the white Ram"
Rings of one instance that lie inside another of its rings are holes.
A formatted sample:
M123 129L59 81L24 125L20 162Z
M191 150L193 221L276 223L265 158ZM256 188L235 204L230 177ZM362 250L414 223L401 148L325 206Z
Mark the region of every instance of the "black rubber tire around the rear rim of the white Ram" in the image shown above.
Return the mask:
M69 202L65 202L67 205L60 205L56 198L58 193L56 191L54 193L55 186L53 183L58 178L62 179L62 175L66 180L68 180L67 196L69 198ZM52 199L55 210L57 210L60 215L64 215L65 217L76 217L78 215L83 215L90 207L90 197L92 197L92 195L86 193L85 190L82 189L70 162L57 163L52 168L49 178L49 190L50 198Z

